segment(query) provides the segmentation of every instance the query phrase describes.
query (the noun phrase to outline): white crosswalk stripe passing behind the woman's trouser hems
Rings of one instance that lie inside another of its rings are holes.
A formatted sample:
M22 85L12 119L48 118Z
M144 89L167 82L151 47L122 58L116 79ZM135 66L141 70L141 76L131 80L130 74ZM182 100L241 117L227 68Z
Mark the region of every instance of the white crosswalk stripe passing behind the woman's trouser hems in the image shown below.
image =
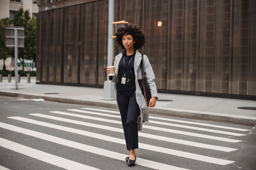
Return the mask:
M33 114L31 114L31 115L33 115ZM93 133L93 132L83 131L83 130L79 130L79 129L69 128L66 126L60 126L60 125L56 125L56 124L52 124L52 123L46 123L46 122L23 118L23 117L18 117L18 116L8 117L8 118L126 145L126 142L124 139L119 139L119 138L115 138L115 137L111 137L111 136L101 135L101 134L97 134L97 133ZM173 150L173 149L148 145L148 144L140 143L140 142L139 142L139 148L156 151L156 152L161 152L161 153L166 153L166 154L175 155L175 156L180 156L180 157L185 157L185 158L189 158L189 159L195 159L195 160L218 164L218 165L227 165L227 164L234 163L233 161L230 161L230 160L213 158L213 157L203 156L203 155L189 153L189 152L177 151L177 150Z

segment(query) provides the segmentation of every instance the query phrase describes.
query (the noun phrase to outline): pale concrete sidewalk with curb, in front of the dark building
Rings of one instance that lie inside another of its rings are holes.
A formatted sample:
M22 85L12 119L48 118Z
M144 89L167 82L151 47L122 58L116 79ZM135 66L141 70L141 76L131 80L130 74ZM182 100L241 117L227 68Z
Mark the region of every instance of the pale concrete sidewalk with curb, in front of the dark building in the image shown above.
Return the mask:
M14 88L14 78L11 83L8 83L7 78L3 78L3 82L0 82L0 96L42 98L54 102L118 108L116 100L102 99L102 88L36 84L35 77L31 78L31 83L27 83L26 77L22 77L18 84L19 89ZM256 110L237 108L256 107L256 101L253 100L164 93L159 93L158 99L156 106L149 108L152 114L256 125Z

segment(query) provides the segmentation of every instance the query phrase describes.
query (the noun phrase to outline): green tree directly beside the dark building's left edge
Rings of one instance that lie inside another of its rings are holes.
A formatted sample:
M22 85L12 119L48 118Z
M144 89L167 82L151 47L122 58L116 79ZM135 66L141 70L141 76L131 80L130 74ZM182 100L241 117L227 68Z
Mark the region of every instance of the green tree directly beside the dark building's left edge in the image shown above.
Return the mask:
M25 38L29 40L25 46L26 59L33 60L34 63L37 55L37 19L32 17L29 20Z

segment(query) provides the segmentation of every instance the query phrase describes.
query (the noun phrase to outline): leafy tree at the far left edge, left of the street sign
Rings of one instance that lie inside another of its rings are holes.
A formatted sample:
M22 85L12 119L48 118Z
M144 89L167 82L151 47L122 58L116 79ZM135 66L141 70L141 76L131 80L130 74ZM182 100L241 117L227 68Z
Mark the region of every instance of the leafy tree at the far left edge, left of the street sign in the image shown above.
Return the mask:
M11 57L12 49L5 46L5 27L10 26L12 21L9 18L0 20L0 60L3 60L3 71L5 70L5 60Z

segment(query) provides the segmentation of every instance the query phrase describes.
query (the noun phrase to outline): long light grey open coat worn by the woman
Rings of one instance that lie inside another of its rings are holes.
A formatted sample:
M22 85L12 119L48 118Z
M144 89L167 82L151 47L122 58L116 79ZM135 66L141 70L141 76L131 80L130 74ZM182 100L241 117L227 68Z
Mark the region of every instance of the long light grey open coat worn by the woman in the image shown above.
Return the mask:
M115 75L113 77L113 79L111 80L112 77L109 77L109 79L115 83L114 84L114 91L116 94L116 85L119 81L119 72L118 72L118 66L119 66L119 62L122 58L123 54L120 53L115 57ZM135 84L136 84L136 91L135 91L135 95L136 95L136 101L140 107L140 116L138 117L138 130L141 131L142 130L142 122L148 122L148 108L147 108L147 104L146 101L142 95L139 83L138 83L138 79L142 79L141 77L141 68L140 68L140 62L141 62L141 58L142 55L140 52L138 52L136 50L136 54L134 57L134 73L135 73ZM150 62L148 61L148 58L146 55L143 55L143 61L144 61L144 72L145 72L145 77L147 80L147 83L150 87L150 91L151 91L151 96L152 97L156 97L157 98L157 89L156 89L156 84L155 84L155 75L153 72L153 69L150 65Z

